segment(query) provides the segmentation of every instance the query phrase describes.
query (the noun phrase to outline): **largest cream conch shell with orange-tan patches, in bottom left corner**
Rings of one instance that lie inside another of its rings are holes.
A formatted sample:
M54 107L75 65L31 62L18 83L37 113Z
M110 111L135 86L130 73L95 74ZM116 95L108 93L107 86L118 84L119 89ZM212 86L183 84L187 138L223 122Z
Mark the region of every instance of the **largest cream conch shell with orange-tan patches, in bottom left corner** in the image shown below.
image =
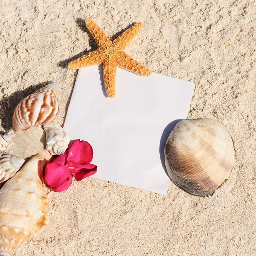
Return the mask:
M48 200L41 180L44 157L27 162L0 190L0 255L12 256L48 224Z

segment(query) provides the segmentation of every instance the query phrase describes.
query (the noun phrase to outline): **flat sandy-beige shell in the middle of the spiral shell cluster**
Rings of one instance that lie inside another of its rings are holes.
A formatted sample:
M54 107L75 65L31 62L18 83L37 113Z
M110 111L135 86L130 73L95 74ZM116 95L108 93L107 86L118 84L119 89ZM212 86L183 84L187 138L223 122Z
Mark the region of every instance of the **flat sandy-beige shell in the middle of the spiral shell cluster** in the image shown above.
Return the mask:
M45 150L45 132L39 126L32 126L28 130L15 134L13 145L11 146L12 154L24 159L31 158L36 154L44 156L49 160L51 154Z

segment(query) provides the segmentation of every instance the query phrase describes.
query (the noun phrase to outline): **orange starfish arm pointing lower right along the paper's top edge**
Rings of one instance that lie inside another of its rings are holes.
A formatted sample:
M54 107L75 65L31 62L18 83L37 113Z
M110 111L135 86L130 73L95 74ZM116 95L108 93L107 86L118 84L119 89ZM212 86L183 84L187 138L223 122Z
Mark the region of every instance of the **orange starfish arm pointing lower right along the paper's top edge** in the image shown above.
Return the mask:
M118 52L116 54L116 62L118 67L136 73L140 76L150 76L152 74L151 70L144 67L138 61L135 61L125 52Z

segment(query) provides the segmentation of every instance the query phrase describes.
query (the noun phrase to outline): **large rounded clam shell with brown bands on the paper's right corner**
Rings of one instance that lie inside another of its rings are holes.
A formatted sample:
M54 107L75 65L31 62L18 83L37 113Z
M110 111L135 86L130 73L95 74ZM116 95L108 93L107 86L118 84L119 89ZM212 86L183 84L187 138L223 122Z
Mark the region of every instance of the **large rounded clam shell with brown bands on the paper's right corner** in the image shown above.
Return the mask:
M211 195L221 186L234 161L230 134L217 121L204 118L178 122L164 153L172 182L196 196Z

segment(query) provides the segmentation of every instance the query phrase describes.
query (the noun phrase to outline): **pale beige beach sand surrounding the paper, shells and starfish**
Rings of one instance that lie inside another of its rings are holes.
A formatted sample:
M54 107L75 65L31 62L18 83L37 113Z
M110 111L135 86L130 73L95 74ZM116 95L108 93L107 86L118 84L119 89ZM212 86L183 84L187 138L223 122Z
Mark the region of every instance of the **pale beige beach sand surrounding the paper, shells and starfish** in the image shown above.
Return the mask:
M87 17L110 38L143 22L126 52L195 83L188 119L227 128L233 171L205 198L173 183L163 196L93 178L47 189L49 225L15 256L256 255L256 1L2 0L0 131L11 129L21 99L51 81L60 82L63 125L77 74L66 64L96 49Z

